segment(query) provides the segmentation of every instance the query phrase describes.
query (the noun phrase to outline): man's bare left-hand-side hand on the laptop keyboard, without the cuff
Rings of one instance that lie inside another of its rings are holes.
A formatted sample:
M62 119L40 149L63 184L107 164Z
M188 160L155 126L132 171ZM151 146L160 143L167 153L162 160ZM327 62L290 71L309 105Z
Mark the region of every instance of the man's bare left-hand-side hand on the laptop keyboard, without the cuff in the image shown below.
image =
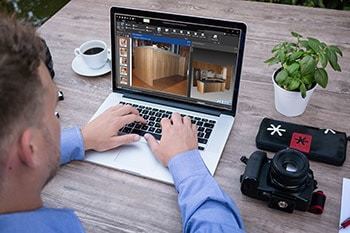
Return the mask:
M85 150L106 151L123 144L138 141L137 134L118 136L118 131L134 121L146 123L139 112L130 105L118 105L107 109L83 129Z

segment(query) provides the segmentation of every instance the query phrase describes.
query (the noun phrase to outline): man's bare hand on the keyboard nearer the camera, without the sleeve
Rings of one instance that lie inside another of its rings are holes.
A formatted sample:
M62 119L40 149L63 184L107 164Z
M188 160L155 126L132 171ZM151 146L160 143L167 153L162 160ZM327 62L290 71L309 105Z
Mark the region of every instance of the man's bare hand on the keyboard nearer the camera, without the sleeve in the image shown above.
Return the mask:
M144 137L164 166L168 166L169 160L175 155L198 147L197 127L192 125L189 117L182 118L179 113L173 113L171 121L163 118L160 123L162 137L159 143L151 134L145 134Z

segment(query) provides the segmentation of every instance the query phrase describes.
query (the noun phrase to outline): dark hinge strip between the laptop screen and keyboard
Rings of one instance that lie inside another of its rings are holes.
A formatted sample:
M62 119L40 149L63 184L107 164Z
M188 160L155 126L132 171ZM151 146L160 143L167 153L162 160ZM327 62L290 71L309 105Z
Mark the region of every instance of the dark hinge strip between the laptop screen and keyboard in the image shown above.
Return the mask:
M130 98L130 99L136 99L136 100L141 100L141 101L146 101L146 102L151 102L155 104L161 104L165 106L170 106L174 108L181 108L181 109L186 109L189 111L194 111L194 112L200 112L200 113L205 113L213 116L220 116L221 112L218 111L217 109L210 107L210 106L196 106L194 104L187 104L183 102L176 102L174 100L167 100L165 98L161 97L150 97L150 96L144 96L144 95L137 95L137 94L131 94L131 93L124 93L123 97L125 98Z

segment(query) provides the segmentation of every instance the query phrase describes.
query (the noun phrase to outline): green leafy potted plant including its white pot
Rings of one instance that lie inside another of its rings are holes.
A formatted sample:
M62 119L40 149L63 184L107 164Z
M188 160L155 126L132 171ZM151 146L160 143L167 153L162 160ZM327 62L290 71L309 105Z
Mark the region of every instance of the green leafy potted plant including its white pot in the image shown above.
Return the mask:
M272 75L275 91L275 107L285 116L298 116L305 111L307 103L317 87L326 88L328 64L341 71L338 56L341 50L315 38L304 38L292 32L295 42L281 42L273 49L273 56L265 61L269 65L279 64Z

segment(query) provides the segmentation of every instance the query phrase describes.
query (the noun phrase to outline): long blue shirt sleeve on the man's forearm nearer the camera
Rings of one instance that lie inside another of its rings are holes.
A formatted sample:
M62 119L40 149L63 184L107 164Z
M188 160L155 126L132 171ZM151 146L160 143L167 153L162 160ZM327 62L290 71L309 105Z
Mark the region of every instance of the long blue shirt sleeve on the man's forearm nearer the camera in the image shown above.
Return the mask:
M199 151L187 151L168 164L178 195L183 232L244 232L239 210L219 187Z

